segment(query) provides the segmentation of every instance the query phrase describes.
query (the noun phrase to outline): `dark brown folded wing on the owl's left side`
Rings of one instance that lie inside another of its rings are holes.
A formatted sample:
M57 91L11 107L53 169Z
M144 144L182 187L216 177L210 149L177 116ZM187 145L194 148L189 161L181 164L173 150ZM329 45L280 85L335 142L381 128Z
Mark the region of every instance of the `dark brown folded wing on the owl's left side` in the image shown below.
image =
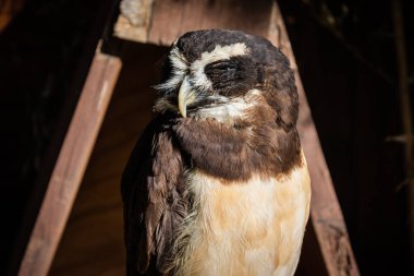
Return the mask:
M126 275L167 274L174 229L187 209L183 171L168 120L159 116L139 137L122 176Z

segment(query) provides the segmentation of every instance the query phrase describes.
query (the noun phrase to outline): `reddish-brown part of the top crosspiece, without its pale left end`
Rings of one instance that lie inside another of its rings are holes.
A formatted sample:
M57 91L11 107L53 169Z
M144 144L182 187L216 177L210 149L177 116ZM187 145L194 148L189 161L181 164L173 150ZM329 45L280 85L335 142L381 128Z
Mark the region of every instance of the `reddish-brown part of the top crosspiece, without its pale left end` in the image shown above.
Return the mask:
M266 36L271 0L155 1L148 41L170 45L194 29L229 28Z

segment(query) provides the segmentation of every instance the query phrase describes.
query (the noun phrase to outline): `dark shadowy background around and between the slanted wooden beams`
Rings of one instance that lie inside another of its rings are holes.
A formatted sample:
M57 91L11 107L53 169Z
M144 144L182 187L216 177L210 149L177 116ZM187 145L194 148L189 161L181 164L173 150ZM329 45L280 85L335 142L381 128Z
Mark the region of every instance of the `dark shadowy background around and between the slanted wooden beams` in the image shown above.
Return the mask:
M0 0L0 275L16 265L32 230L38 209L28 206L41 202L50 148L64 137L102 14L113 8L107 2ZM414 2L279 5L360 271L413 275ZM50 275L122 275L119 177L150 118L149 86L166 51L122 44L123 69Z

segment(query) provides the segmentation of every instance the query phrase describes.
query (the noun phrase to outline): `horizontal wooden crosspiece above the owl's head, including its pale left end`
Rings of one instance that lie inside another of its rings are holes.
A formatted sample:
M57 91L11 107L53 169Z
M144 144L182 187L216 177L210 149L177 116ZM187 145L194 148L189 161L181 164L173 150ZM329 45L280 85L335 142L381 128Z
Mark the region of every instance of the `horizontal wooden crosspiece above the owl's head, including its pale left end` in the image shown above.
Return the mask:
M266 36L271 0L123 0L115 35L134 41L169 46L185 32L205 28L244 29ZM141 9L138 9L141 7ZM135 20L144 14L146 20ZM148 15L150 14L150 15ZM134 25L133 21L136 22ZM146 31L145 31L146 29Z

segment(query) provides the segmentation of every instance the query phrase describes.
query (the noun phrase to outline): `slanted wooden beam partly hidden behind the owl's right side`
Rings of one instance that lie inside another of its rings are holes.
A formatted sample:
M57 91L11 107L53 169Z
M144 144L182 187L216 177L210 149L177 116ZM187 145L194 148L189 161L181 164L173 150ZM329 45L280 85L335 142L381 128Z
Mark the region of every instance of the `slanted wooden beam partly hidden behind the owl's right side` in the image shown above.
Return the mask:
M312 119L305 91L278 4L271 9L268 38L290 59L295 72L300 96L297 130L307 159L312 180L310 216L329 275L360 275L346 225L339 205L332 179Z

